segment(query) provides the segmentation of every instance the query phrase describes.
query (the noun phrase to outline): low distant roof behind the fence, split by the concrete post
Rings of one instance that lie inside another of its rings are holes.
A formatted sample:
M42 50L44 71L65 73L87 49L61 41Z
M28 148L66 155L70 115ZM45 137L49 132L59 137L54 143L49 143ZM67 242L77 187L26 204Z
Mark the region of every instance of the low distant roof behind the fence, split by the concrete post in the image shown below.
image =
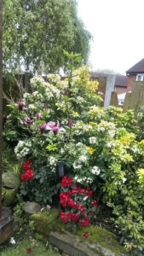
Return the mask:
M107 73L90 72L92 78L107 78ZM127 76L116 74L115 86L127 87Z

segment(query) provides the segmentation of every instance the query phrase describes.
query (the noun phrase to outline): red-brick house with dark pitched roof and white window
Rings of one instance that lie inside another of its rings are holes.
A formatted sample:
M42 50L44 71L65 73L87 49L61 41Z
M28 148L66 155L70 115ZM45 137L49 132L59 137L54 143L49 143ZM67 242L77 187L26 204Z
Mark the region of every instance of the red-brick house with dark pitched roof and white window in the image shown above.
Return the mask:
M144 81L144 59L126 71L128 78L127 91L131 91L135 81Z

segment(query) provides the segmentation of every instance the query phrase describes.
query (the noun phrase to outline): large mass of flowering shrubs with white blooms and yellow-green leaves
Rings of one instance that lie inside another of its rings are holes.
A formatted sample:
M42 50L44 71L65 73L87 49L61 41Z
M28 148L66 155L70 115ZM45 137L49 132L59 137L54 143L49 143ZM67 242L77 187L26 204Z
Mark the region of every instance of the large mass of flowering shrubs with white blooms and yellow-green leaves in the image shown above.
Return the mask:
M73 183L90 187L93 200L110 207L125 246L141 253L144 140L133 111L100 107L97 86L87 67L72 69L66 79L33 78L32 93L9 104L3 135L21 162L25 199L52 202L60 189L55 170L63 162Z

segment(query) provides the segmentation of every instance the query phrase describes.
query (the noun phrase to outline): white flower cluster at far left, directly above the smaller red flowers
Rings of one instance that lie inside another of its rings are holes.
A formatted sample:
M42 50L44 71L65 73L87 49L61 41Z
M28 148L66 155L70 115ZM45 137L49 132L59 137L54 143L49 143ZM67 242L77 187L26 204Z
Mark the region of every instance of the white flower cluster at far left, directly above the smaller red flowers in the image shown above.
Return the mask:
M21 157L29 154L31 147L31 142L20 141L14 148L14 153L16 154L17 159L20 159Z

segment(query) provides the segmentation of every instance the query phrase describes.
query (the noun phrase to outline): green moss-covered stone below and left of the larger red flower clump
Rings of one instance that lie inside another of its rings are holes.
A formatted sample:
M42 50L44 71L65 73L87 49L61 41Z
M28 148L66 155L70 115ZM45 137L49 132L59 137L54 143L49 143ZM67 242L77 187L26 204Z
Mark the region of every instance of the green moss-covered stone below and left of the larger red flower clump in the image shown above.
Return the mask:
M34 213L30 219L34 221L35 230L49 239L50 231L60 231L64 228L64 224L60 222L59 215L59 210L52 209L49 212Z

